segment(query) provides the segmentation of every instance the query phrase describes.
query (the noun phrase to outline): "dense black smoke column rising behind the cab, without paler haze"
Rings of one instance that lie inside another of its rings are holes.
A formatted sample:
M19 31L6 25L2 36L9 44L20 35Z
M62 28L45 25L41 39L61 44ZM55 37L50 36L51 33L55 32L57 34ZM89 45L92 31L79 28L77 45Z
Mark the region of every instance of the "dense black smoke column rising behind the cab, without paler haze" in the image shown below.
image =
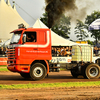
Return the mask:
M45 0L48 13L48 27L51 28L63 13L76 8L75 0Z

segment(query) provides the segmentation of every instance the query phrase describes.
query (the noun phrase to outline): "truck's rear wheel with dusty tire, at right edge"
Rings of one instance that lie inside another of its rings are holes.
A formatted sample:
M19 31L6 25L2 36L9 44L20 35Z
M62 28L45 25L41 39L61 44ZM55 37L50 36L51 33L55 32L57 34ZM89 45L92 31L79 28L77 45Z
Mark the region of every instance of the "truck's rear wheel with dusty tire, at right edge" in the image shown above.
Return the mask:
M100 77L100 67L97 64L89 64L84 68L84 78L98 79Z

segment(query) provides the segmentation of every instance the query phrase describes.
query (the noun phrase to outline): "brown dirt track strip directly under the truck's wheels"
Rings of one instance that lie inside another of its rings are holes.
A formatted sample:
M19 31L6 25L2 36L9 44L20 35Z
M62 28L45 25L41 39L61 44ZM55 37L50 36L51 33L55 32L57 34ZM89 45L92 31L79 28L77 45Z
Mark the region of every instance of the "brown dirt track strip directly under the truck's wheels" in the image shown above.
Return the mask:
M24 79L19 73L0 72L0 84L27 84L27 83L53 83L53 82L84 82L100 81L99 79L84 79L83 77L73 78L69 71L50 72L49 76L40 81Z

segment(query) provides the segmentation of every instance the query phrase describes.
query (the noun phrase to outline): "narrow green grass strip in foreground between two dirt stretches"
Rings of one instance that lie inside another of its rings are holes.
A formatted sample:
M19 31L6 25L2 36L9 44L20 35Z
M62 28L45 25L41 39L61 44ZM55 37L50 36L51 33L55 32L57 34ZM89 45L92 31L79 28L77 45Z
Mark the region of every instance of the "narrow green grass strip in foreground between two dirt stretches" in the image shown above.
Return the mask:
M43 83L43 84L12 84L1 85L0 89L29 89L29 88L45 88L45 87L87 87L100 86L100 81L96 82L67 82L67 83Z

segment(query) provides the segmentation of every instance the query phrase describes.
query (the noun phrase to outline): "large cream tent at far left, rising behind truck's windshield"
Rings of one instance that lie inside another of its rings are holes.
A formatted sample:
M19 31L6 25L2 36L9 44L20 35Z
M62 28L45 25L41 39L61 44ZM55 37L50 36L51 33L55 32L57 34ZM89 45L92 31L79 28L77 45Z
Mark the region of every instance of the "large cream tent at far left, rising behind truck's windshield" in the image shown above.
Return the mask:
M11 38L11 31L18 28L18 24L23 23L26 27L29 25L21 18L16 11L12 8L9 0L8 4L4 0L0 0L0 39L5 41Z

